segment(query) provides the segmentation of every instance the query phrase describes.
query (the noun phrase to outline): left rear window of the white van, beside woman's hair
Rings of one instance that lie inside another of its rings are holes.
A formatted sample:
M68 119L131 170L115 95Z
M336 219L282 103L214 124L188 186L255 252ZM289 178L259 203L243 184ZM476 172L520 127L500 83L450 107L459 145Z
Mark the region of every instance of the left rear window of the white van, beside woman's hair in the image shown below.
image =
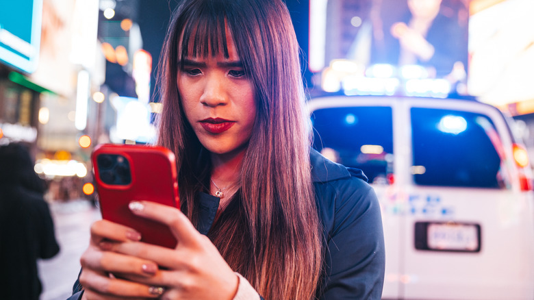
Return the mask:
M325 108L312 114L314 148L330 160L361 168L371 183L393 173L390 107Z

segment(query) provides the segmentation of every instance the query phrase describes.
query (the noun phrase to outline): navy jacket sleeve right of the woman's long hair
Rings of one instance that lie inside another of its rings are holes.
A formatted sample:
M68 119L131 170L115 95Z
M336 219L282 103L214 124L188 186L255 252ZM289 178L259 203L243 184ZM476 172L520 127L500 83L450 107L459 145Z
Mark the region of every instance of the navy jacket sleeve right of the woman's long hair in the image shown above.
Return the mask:
M329 184L325 282L319 299L381 299L385 250L381 210L374 190L351 177Z

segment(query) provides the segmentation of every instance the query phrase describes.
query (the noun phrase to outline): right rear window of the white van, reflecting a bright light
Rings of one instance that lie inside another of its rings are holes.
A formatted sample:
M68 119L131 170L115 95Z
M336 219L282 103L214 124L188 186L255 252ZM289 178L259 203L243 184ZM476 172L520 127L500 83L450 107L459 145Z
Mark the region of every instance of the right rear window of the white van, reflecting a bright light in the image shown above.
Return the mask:
M411 108L414 182L424 186L505 188L503 145L483 114Z

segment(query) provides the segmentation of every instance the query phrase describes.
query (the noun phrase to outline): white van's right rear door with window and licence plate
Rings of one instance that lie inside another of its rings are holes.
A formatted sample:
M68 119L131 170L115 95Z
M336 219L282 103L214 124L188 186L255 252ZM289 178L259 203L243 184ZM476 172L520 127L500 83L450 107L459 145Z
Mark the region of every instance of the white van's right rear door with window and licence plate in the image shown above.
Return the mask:
M531 196L511 137L484 110L411 107L403 299L533 299Z

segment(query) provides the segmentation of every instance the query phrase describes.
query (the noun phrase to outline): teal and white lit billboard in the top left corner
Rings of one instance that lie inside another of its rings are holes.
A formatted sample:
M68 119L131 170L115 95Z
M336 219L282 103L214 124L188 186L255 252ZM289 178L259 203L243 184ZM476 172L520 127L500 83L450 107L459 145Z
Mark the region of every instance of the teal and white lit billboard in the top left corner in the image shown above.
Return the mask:
M32 73L39 58L42 0L0 0L0 62Z

